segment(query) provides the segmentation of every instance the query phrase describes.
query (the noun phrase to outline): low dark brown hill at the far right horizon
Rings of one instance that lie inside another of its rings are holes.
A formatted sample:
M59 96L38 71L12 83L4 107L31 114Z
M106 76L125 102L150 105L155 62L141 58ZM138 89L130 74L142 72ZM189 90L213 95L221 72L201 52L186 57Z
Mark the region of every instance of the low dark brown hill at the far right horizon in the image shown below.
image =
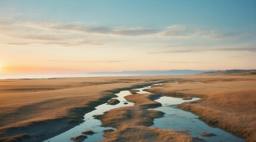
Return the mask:
M211 71L211 72L204 72L204 74L241 74L241 75L256 75L256 70L240 70L240 69L233 69L233 70L218 70L218 71Z

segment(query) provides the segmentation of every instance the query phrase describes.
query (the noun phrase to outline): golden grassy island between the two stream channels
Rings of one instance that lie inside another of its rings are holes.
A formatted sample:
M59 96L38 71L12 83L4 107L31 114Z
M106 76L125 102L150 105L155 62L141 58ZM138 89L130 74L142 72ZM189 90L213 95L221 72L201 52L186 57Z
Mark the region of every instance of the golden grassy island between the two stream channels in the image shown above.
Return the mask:
M185 132L146 127L153 124L154 118L163 117L163 112L146 109L161 106L152 101L158 96L148 93L128 95L125 98L135 106L116 108L95 116L103 126L117 128L106 133L107 138L103 141L192 141L191 135Z

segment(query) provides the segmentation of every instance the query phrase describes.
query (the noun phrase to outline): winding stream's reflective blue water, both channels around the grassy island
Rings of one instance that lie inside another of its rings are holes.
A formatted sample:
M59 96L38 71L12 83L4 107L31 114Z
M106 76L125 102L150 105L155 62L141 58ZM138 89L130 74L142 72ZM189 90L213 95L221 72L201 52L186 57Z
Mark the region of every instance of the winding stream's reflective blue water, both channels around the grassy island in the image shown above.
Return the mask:
M158 85L158 84L155 84ZM143 89L151 88L151 86L147 86L144 88L139 88L139 94L141 93L149 93L143 91ZM95 110L85 114L84 120L80 125L77 125L74 128L71 128L60 135L56 135L55 137L49 138L44 142L52 142L52 141L67 141L71 142L71 137L75 137L80 135L85 130L92 130L95 132L93 135L87 135L88 138L85 141L101 141L104 140L103 134L104 130L110 129L111 127L101 127L101 121L96 120L93 115L103 114L106 111L110 111L114 108L119 108L121 106L132 106L134 105L132 102L128 102L124 96L132 95L130 91L120 91L119 93L115 93L120 101L117 105L107 105L107 103L96 106ZM192 114L191 112L183 111L182 109L177 108L177 105L182 104L183 102L195 101L199 98L192 98L191 100L183 100L182 98L173 98L168 96L161 96L159 99L155 100L160 102L162 106L155 108L154 110L164 112L164 117L157 118L154 120L154 125L151 127L157 127L161 129L173 129L178 131L188 131L193 137L199 137L206 141L245 141L242 138L236 137L226 131L220 130L219 128L213 128L205 124L204 122L198 119L197 115ZM124 104L126 102L127 104ZM114 128L111 128L115 130ZM202 137L201 134L214 133L216 136L213 137Z

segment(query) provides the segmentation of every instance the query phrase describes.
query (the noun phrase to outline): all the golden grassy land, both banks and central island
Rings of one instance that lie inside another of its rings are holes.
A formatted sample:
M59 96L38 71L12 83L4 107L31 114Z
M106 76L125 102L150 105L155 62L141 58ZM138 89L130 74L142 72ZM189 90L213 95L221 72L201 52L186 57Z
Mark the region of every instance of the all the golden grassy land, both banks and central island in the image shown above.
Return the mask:
M161 82L148 89L152 94L126 96L135 106L97 116L102 125L117 128L105 134L105 141L192 141L186 132L149 128L163 115L146 110L161 105L154 101L159 94L200 97L179 108L247 141L256 140L256 76L230 74L0 80L0 141L46 140L82 122L86 112L114 93Z

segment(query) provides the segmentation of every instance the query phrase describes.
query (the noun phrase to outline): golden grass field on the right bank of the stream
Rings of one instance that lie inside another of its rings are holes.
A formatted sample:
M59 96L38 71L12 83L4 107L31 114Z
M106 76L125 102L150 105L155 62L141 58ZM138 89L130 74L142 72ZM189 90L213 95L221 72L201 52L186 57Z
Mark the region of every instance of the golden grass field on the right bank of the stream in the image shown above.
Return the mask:
M199 103L186 102L179 107L247 141L256 139L255 75L188 76L179 83L166 83L148 91L167 96L199 96Z

